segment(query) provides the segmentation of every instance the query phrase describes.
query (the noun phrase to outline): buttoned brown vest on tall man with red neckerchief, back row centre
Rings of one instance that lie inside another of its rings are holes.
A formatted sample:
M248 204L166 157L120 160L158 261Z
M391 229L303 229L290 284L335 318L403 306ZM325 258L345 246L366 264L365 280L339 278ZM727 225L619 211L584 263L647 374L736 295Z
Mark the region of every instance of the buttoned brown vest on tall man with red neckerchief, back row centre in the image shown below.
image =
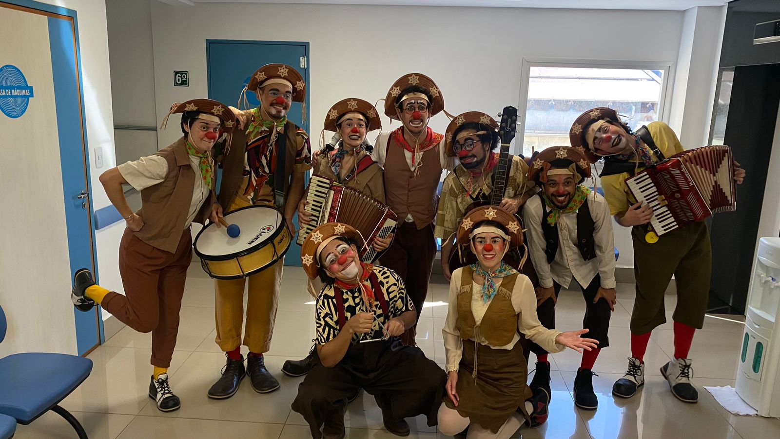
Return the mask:
M379 146L381 148L381 146ZM412 214L417 230L433 223L438 202L438 184L441 178L441 159L439 148L423 152L420 174L414 177L409 169L406 155L401 145L395 143L392 135L388 138L385 152L385 197L399 221Z

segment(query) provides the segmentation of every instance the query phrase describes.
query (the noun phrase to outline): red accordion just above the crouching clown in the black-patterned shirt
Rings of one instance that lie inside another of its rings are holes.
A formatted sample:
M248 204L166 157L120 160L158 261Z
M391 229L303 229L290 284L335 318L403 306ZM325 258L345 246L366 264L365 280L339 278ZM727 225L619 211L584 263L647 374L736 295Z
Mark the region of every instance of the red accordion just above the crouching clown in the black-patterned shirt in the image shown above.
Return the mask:
M314 219L308 225L301 226L298 244L303 244L311 231L321 224L349 224L366 241L366 246L360 248L360 260L363 262L373 262L377 258L377 251L372 244L378 237L385 238L391 234L398 221L395 213L377 199L318 175L313 175L309 180L306 201L308 204L305 209Z

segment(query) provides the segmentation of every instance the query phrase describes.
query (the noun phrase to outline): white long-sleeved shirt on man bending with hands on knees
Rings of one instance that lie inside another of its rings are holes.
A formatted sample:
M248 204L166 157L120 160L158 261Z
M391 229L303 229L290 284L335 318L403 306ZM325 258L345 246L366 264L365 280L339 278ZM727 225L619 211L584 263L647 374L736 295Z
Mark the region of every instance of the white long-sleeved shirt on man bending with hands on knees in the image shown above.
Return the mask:
M590 261L583 260L580 248L576 244L577 212L571 212L561 215L555 223L558 227L558 252L555 253L552 263L547 262L547 254L544 252L547 241L541 229L541 199L534 196L523 205L523 226L528 229L531 261L534 262L539 284L542 287L552 287L552 282L555 280L566 288L574 277L580 286L585 288L596 274L601 275L602 288L615 287L615 241L612 236L609 205L596 191L590 192L587 204L594 222L596 257Z

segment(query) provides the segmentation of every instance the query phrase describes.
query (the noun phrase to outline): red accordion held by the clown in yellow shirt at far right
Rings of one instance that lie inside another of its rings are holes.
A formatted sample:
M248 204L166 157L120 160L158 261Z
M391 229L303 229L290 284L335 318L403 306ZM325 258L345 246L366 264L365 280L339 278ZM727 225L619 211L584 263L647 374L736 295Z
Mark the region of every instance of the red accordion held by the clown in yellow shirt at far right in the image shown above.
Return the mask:
M626 180L636 201L653 209L661 236L716 212L736 210L731 148L705 146L672 155Z

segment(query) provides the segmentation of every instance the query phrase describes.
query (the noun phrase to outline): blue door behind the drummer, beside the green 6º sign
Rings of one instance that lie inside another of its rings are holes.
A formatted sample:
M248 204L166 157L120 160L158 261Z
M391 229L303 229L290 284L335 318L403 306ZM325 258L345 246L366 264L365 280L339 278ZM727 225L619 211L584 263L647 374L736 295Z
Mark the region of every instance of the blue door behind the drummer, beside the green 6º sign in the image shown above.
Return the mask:
M306 81L307 120L301 117L300 102L293 102L289 120L309 132L309 70L306 67L309 43L293 41L206 40L208 97L225 105L238 106L239 95L257 69L272 62L295 67ZM250 107L260 105L252 93L246 94ZM298 228L298 216L293 217ZM293 239L294 241L294 239ZM300 266L300 246L294 242L285 255L286 266Z

